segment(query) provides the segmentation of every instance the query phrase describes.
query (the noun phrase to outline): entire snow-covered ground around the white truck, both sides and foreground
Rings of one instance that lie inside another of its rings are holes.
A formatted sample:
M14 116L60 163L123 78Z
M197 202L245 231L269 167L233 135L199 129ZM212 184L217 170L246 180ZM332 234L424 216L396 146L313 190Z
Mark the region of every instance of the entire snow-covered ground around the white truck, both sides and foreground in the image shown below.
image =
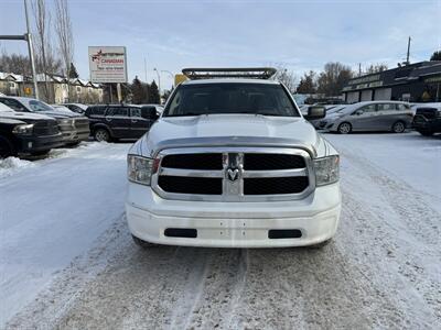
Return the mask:
M0 328L440 329L441 139L324 136L344 206L323 250L138 249L128 144L0 163Z

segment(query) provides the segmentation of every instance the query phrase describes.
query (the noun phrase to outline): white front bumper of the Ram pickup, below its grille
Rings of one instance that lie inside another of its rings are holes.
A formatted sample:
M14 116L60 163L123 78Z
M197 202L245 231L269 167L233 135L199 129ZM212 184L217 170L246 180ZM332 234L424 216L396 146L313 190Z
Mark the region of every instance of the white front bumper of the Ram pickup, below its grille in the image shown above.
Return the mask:
M316 244L335 234L338 184L319 187L302 200L207 202L165 200L150 187L129 183L126 216L131 233L168 245L282 248ZM196 238L166 237L165 229L195 229ZM269 230L300 230L301 238L270 239Z

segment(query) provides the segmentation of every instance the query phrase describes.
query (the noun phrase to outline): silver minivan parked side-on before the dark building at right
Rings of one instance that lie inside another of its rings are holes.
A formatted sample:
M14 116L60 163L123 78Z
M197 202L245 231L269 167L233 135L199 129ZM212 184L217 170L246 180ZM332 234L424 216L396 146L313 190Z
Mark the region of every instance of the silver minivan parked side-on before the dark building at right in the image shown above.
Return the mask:
M346 106L322 120L320 127L347 134L355 131L402 133L411 127L410 105L399 101L366 101Z

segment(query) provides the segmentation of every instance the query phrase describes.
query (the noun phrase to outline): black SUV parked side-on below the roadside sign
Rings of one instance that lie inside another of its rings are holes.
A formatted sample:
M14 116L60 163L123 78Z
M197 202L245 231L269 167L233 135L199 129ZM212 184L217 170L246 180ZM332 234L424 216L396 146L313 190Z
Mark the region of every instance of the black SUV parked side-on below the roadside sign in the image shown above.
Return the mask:
M85 113L96 141L139 139L158 119L154 106L90 106Z

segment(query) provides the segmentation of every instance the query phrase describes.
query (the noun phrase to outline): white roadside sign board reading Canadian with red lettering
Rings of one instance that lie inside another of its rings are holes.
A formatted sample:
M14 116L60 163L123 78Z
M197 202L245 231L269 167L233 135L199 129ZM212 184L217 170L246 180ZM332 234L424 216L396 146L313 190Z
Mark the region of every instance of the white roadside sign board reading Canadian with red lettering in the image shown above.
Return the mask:
M127 57L123 46L89 46L92 82L127 82Z

